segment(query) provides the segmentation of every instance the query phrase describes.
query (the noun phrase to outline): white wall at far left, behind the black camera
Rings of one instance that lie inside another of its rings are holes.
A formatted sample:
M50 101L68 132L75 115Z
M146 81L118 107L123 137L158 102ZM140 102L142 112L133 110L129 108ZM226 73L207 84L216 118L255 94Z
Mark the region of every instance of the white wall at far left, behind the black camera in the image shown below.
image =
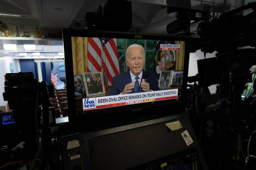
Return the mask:
M18 59L12 59L9 57L0 57L0 106L5 106L6 102L3 99L4 92L4 81L5 74L11 73L10 71L10 63L13 64L13 72L17 73L20 71L20 63Z

